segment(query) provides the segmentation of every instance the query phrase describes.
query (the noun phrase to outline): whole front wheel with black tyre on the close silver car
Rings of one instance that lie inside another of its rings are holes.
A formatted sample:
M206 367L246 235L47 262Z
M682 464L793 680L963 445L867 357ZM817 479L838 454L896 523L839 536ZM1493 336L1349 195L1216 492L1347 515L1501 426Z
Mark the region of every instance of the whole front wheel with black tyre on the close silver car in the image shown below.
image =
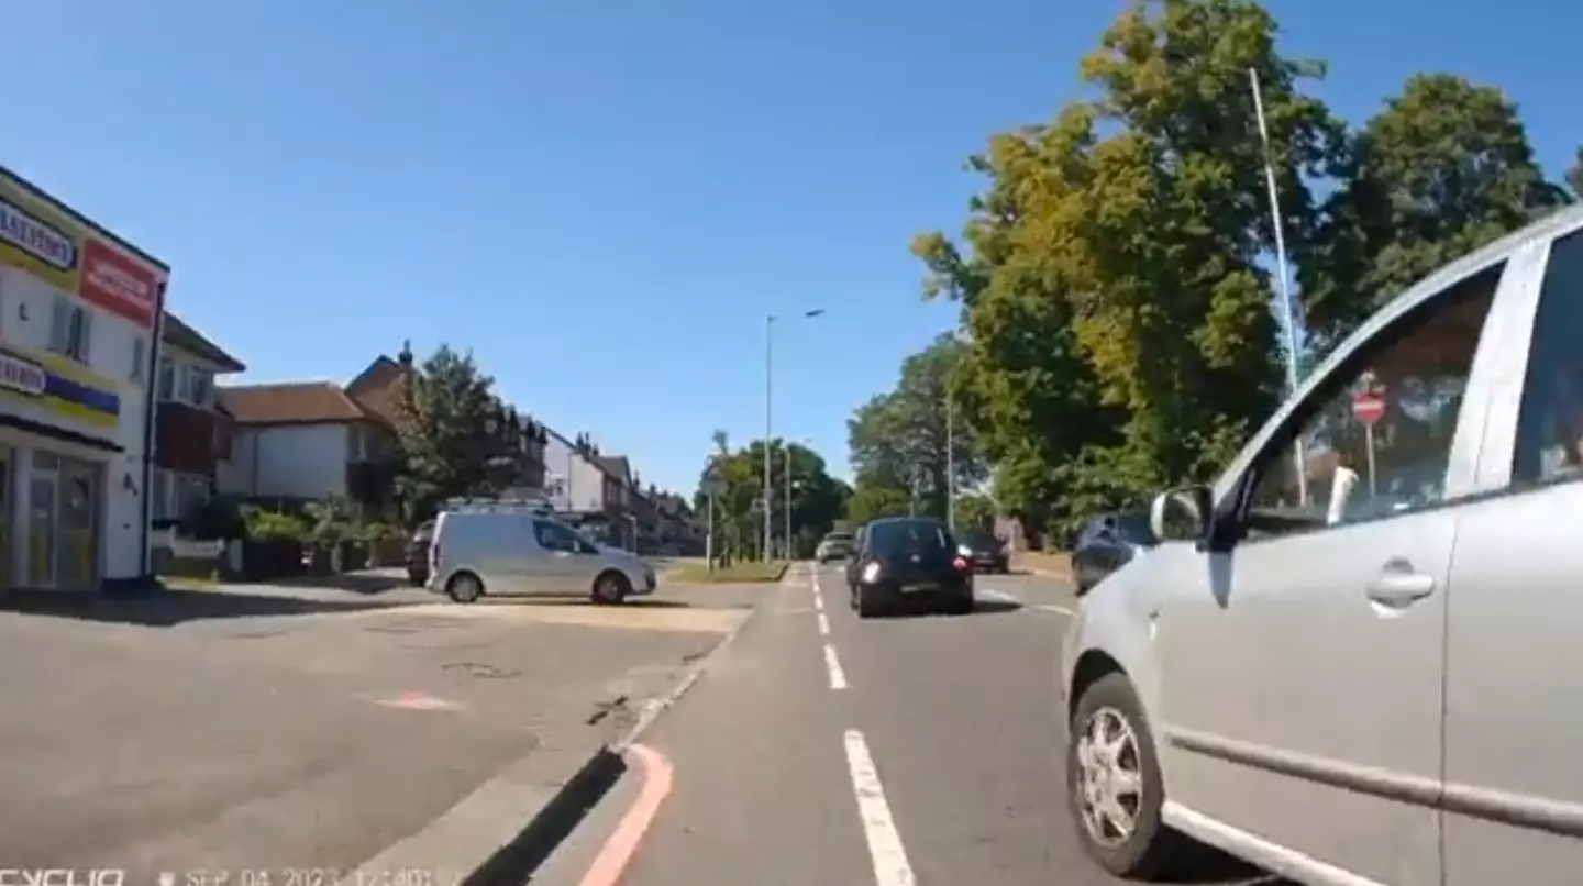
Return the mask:
M1130 775L1137 789L1118 789L1116 775ZM1138 695L1124 674L1107 674L1083 691L1067 729L1067 805L1078 843L1116 877L1165 875L1183 837L1160 820L1164 804L1154 736ZM1130 832L1107 827L1113 821L1107 805L1130 816Z

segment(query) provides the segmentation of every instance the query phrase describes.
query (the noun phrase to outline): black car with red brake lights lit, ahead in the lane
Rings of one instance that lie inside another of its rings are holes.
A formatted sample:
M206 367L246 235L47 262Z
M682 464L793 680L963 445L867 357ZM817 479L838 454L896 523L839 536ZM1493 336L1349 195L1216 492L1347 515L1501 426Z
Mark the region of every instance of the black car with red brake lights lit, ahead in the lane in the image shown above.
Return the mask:
M886 517L863 527L852 560L850 604L871 619L913 603L953 614L974 611L974 565L943 522Z

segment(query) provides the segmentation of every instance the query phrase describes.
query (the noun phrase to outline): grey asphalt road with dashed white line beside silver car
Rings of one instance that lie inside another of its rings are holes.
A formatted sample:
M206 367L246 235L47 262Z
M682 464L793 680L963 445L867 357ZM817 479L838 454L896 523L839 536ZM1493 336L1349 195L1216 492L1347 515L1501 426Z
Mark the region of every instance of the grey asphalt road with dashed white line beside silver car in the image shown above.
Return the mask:
M834 568L773 593L643 737L674 786L624 886L1119 883L1062 797L1065 585L981 576L972 615L867 622ZM1190 881L1276 883L1213 856Z

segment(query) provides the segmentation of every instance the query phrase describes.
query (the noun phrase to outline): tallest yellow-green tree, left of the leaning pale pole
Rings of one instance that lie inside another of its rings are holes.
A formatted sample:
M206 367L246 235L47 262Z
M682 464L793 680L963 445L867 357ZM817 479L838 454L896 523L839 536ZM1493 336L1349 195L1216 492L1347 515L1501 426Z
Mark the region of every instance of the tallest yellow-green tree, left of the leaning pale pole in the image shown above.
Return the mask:
M1301 90L1322 65L1276 30L1247 0L1135 3L1083 62L1092 100L970 161L969 252L913 242L924 294L962 301L996 497L1031 528L1072 519L1078 489L1119 505L1214 473L1279 396L1249 70L1298 258L1325 242L1311 184L1347 139Z

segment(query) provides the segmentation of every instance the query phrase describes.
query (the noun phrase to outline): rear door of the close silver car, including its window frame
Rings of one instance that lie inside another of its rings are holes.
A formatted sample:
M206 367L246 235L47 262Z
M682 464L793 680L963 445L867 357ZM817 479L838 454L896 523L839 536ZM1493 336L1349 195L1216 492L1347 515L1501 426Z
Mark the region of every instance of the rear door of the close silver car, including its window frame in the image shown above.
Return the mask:
M1534 267L1517 312L1531 337L1509 350L1520 369L1480 452L1494 492L1467 508L1452 566L1447 886L1583 881L1583 234L1536 245Z

